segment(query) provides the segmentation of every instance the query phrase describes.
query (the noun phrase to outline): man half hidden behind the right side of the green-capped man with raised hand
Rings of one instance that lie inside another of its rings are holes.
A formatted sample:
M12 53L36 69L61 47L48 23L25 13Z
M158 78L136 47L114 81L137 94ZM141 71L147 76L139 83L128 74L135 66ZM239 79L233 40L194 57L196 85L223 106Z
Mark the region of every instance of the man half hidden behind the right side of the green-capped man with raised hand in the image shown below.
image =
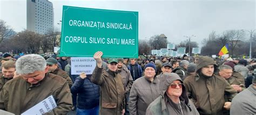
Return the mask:
M128 100L129 100L130 90L131 90L131 87L133 84L133 79L132 79L130 71L124 65L124 59L118 58L117 61L118 61L117 72L120 73L120 75L122 77L122 82L123 82L124 91L125 91L125 105L126 105L125 112L129 113Z

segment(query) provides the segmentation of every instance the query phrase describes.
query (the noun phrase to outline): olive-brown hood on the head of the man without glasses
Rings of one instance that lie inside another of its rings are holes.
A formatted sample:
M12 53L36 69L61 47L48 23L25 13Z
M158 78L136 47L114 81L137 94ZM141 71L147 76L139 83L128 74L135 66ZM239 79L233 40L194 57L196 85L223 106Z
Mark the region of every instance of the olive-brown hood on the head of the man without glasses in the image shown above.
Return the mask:
M204 66L207 66L207 65L214 65L214 71L217 69L217 64L214 62L213 58L208 57L208 56L200 56L198 58L196 72L198 73L198 70L200 70L201 68L203 68Z

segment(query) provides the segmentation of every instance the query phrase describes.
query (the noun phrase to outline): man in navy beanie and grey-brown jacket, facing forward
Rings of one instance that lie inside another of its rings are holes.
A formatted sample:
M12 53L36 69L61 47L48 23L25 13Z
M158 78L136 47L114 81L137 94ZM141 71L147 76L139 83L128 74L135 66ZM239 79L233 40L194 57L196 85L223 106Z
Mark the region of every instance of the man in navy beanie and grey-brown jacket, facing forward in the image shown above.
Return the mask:
M130 114L144 115L147 106L160 96L159 79L156 78L156 65L145 65L144 76L134 81L130 93Z

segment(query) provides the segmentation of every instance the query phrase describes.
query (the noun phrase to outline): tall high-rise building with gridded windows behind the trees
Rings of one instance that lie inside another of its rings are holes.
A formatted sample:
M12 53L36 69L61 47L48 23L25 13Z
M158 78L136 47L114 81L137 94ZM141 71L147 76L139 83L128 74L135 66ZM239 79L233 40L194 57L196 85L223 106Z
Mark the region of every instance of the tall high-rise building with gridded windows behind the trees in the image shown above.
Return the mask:
M53 5L48 0L26 1L26 29L36 33L53 32Z

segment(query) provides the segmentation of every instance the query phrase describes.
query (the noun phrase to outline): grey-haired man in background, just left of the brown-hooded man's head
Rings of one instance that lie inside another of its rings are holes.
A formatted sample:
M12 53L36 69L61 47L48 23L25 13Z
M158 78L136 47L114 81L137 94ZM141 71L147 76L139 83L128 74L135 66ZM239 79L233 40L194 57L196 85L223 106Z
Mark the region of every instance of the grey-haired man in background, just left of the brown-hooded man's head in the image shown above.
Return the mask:
M176 67L176 69L173 70L174 73L177 73L177 75L179 75L179 77L184 80L185 79L185 75L187 73L187 66L188 64L190 64L190 62L188 62L187 60L181 60L180 62L180 66Z

